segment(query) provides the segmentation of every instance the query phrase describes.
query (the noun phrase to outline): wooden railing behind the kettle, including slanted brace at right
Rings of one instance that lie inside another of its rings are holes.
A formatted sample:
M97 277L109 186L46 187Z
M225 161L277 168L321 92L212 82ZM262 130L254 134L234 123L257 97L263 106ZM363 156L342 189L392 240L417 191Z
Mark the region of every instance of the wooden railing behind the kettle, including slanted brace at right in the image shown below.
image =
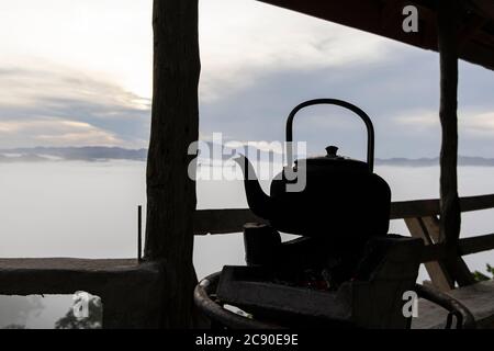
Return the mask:
M494 208L494 194L461 197L460 206L462 212ZM422 262L433 284L441 291L448 291L454 287L454 279L441 261L451 254L451 248L440 242L438 215L439 200L416 200L393 202L390 218L404 219L411 235L425 241ZM195 213L194 234L242 233L244 224L249 222L265 220L248 208L200 210ZM469 272L461 257L492 249L494 234L489 234L460 239L453 253L458 256L459 264Z

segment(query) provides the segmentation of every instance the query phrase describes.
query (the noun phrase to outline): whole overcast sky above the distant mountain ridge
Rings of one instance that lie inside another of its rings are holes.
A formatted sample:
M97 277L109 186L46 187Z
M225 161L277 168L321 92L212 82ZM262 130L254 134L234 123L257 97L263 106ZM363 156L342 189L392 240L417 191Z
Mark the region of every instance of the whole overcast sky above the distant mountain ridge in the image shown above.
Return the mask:
M146 147L151 0L0 2L0 148ZM378 157L439 152L438 55L258 3L201 0L201 136L282 140L306 99L372 117ZM460 154L494 157L494 72L460 64ZM310 151L364 155L363 128L334 107L295 123Z

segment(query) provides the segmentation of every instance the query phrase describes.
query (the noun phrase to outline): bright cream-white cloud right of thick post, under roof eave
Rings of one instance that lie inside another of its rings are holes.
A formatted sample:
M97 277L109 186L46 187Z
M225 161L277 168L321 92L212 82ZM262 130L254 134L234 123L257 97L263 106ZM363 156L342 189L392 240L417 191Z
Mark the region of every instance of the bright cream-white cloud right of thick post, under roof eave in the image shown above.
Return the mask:
M388 59L393 44L327 21L250 0L200 2L201 99L228 99L267 72Z

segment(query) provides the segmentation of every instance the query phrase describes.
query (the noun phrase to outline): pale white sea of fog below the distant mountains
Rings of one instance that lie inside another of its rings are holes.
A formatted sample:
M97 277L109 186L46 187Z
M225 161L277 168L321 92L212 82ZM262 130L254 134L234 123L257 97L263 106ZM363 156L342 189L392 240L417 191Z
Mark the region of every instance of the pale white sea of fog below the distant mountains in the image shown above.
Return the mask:
M438 197L437 167L382 166L375 171L390 183L394 201ZM262 185L267 190L269 181ZM460 168L459 192L494 193L494 167ZM141 161L0 163L0 257L133 258L136 207L145 203ZM199 208L246 206L242 181L198 181ZM391 231L407 235L403 220L393 220ZM493 211L463 214L463 237L493 231ZM485 271L494 252L465 261L471 270ZM199 276L224 264L243 264L242 235L197 237L194 263ZM419 279L427 279L424 270ZM0 328L50 328L71 304L71 296L0 296Z

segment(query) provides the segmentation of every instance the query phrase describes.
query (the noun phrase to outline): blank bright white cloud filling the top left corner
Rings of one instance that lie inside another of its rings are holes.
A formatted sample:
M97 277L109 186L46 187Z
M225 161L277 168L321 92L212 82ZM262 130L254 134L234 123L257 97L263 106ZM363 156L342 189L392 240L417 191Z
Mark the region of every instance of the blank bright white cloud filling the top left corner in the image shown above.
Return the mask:
M150 97L151 0L0 1L0 64L50 61Z

